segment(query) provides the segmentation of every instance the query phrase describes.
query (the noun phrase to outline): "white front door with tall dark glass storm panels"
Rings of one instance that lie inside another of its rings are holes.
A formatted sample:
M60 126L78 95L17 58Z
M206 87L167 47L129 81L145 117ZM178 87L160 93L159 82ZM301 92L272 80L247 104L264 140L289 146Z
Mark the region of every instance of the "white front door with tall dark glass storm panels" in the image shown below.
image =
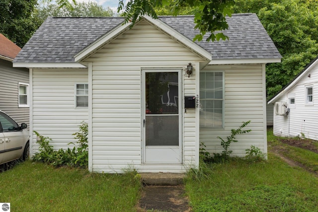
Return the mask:
M181 71L143 70L144 163L182 163Z

